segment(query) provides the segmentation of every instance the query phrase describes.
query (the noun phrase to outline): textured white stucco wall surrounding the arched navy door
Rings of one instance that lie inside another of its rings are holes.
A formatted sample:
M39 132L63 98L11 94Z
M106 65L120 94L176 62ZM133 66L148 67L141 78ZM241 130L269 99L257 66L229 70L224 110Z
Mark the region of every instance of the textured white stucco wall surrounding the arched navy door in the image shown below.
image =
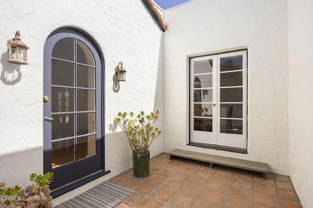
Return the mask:
M0 82L0 181L24 186L30 173L43 172L43 50L48 35L62 26L89 33L104 55L105 169L112 172L92 183L130 168L131 148L125 135L109 131L113 118L118 111L163 112L161 31L141 0L2 0L0 14L0 71L14 66L6 62L6 44L17 30L30 47L29 65L20 66L21 81ZM124 63L127 81L114 92L118 62ZM162 115L158 124L162 129ZM151 156L162 148L160 137L151 146Z

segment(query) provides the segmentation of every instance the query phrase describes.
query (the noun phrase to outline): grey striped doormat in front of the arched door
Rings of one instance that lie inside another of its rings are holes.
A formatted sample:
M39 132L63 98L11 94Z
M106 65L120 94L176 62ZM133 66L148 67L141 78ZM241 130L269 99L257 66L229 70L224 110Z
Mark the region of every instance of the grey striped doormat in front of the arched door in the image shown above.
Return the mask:
M103 182L55 208L114 208L134 192L110 182Z

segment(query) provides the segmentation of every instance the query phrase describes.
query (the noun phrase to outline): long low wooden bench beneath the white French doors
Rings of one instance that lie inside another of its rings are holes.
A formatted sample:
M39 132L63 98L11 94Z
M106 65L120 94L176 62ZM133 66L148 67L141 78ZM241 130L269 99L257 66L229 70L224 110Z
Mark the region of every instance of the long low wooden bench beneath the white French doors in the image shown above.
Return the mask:
M241 159L224 157L224 156L210 155L210 154L193 152L193 151L182 150L182 149L175 149L171 151L170 160L172 160L174 156L207 162L209 163L210 168L213 168L214 164L218 164L218 165L223 165L223 166L230 166L230 167L236 167L236 168L241 168L241 169L246 169L246 170L252 170L256 172L262 172L264 179L266 179L266 174L268 173L268 164L266 163L241 160Z

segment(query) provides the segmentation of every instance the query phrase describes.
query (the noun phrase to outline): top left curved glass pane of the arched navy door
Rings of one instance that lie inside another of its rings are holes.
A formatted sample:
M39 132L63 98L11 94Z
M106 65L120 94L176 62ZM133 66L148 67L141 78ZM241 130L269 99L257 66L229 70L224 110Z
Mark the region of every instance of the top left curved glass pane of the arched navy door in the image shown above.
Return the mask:
M55 43L52 50L52 57L67 61L74 61L74 41L73 38L64 38Z

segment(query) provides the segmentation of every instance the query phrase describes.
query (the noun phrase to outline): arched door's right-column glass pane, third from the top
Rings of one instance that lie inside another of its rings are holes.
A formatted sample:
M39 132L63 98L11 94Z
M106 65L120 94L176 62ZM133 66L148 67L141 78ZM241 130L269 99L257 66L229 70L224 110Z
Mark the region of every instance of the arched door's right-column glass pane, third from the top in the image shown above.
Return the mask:
M77 111L94 110L95 91L77 89Z

